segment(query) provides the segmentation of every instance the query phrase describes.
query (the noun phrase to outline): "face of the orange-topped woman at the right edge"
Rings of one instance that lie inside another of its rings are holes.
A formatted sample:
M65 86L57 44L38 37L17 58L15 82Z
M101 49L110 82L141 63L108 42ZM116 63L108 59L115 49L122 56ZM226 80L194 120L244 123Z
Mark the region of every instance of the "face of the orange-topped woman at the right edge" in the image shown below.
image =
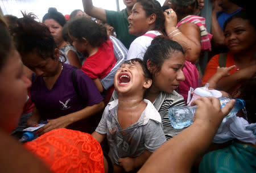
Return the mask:
M236 18L226 25L225 45L232 53L240 53L253 48L256 44L255 28L249 20Z

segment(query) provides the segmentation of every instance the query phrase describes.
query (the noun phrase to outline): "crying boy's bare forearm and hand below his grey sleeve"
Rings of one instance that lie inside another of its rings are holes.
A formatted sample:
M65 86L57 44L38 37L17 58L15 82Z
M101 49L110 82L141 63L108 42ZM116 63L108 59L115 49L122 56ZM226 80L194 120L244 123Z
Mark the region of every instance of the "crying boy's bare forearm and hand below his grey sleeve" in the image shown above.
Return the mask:
M118 160L119 166L122 166L126 172L132 171L135 168L140 168L147 161L152 153L145 150L141 155L135 158L120 158Z

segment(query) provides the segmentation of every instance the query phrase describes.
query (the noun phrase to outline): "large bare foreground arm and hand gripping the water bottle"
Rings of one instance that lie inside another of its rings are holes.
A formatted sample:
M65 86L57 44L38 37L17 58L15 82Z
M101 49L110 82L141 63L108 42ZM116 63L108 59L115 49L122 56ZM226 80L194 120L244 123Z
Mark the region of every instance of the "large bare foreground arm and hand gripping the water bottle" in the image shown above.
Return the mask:
M190 172L193 161L207 149L234 103L231 100L221 109L220 101L213 97L201 97L192 102L197 105L193 124L160 146L147 159L139 173Z

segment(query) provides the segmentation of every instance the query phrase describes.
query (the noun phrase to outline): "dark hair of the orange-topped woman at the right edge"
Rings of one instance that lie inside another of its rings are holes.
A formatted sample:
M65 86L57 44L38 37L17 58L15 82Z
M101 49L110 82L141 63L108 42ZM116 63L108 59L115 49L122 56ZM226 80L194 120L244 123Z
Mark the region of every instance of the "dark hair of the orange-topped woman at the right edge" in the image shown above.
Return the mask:
M238 19L238 18L249 20L251 26L256 28L254 15L250 15L250 13L247 12L246 10L241 10L240 12L237 12L236 14L234 14L233 16L231 16L230 18L228 18L226 20L226 22L224 23L224 27L223 27L224 31L225 31L226 25L228 23L230 23L233 19Z

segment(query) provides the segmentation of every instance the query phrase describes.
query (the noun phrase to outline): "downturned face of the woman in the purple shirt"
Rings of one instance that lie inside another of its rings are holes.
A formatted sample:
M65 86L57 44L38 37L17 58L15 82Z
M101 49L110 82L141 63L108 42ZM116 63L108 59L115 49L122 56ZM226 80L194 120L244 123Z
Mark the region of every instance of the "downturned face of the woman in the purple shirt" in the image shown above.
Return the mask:
M58 49L56 49L57 51ZM59 56L56 56L59 57ZM51 57L43 59L36 52L22 56L23 64L42 77L52 77L59 70L59 60Z

